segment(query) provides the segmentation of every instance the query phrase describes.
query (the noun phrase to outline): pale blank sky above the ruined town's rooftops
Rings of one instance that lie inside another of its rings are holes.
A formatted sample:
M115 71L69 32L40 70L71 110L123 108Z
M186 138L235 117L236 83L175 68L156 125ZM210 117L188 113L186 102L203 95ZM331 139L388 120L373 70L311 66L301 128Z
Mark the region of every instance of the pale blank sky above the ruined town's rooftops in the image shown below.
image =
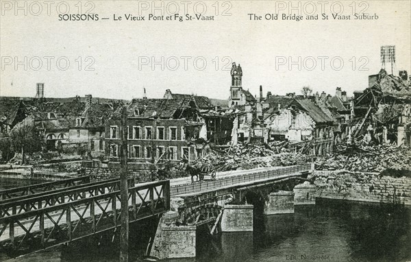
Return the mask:
M242 87L253 94L262 85L264 95L300 93L303 86L332 95L340 86L352 95L381 69L382 45L395 45L395 69L411 73L409 0L46 2L19 1L18 9L0 0L1 96L34 97L41 82L45 97L132 99L145 88L153 98L171 89L227 99L232 62L241 64ZM79 7L99 20L59 21L58 11L78 14ZM282 20L292 7L303 20ZM177 8L183 21L173 20ZM197 21L203 8L213 20ZM373 19L354 20L364 9ZM307 20L310 13L319 20ZM334 20L336 13L350 19ZM127 21L128 14L145 21ZM164 21L148 20L149 14ZM278 19L267 20L271 14Z

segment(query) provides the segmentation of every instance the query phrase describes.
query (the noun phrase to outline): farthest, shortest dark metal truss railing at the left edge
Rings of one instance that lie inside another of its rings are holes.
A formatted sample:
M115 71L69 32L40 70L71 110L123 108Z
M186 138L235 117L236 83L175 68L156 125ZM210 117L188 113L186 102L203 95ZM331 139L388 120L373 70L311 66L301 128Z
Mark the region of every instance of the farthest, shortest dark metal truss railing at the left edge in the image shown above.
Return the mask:
M90 182L90 176L80 176L78 178L69 178L53 182L45 182L41 184L31 184L25 187L16 187L13 189L5 189L0 191L0 202L10 198L18 198L23 195L31 195L41 193L53 189L73 187L76 184L84 184Z

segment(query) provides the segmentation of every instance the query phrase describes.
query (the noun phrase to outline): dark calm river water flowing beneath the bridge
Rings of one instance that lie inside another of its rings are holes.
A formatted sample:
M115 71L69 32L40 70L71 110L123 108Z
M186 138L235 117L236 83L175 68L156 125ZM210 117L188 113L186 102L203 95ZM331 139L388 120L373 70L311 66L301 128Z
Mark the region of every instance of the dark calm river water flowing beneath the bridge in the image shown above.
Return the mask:
M411 261L408 206L321 200L316 206L296 206L294 214L257 214L254 219L253 233L211 237L206 227L200 228L197 258L169 261ZM134 228L130 235L139 235L145 228ZM69 248L41 251L12 261L118 261L116 239L101 246L77 242ZM129 261L141 261L146 245L147 240L132 237ZM7 259L0 252L0 261Z

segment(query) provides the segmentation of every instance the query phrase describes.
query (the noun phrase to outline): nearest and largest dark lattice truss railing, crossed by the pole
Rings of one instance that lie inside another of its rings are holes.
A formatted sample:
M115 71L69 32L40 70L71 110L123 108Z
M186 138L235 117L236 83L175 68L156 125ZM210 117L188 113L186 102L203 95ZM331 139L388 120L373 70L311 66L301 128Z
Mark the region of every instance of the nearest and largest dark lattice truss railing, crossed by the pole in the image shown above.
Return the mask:
M170 181L128 189L129 222L170 209ZM0 218L0 250L34 252L121 226L120 191Z

